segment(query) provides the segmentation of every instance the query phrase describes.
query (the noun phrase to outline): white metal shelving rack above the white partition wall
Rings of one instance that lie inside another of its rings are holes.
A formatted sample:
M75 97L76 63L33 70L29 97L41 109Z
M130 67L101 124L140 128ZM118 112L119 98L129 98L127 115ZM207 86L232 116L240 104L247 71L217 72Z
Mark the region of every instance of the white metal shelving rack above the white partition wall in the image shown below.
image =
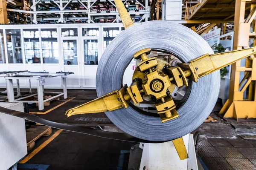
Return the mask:
M150 17L148 0L123 0L134 22ZM37 23L118 23L121 22L113 0L31 0L30 11L7 9L31 14Z

